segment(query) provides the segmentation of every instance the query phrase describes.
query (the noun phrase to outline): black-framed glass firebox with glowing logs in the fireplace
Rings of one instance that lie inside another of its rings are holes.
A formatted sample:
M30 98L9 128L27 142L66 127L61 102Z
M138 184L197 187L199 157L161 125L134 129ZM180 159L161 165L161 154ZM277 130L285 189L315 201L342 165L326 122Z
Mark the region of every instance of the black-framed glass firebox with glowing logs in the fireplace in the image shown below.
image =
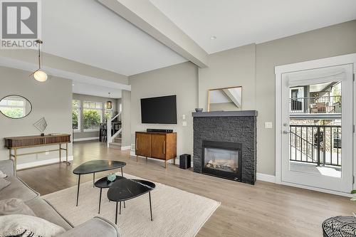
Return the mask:
M201 142L201 172L241 181L242 144L237 142Z

